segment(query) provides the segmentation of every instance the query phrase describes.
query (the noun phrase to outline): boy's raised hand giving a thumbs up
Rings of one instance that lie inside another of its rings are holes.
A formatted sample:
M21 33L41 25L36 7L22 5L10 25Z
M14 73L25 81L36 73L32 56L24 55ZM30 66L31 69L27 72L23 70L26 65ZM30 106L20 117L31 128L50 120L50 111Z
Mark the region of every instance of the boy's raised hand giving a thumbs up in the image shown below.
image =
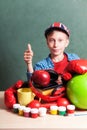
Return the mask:
M32 58L33 58L33 51L31 49L31 45L28 44L28 49L24 52L24 61L27 64L31 64L32 63Z

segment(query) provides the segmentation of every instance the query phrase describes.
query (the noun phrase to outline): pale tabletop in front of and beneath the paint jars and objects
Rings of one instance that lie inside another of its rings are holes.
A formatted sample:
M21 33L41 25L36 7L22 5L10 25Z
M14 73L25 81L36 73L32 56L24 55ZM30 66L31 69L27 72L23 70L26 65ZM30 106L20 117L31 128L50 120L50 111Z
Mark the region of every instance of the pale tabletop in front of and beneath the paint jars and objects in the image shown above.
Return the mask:
M25 118L8 110L4 105L4 92L0 91L0 130L75 130L87 129L87 116L59 116Z

